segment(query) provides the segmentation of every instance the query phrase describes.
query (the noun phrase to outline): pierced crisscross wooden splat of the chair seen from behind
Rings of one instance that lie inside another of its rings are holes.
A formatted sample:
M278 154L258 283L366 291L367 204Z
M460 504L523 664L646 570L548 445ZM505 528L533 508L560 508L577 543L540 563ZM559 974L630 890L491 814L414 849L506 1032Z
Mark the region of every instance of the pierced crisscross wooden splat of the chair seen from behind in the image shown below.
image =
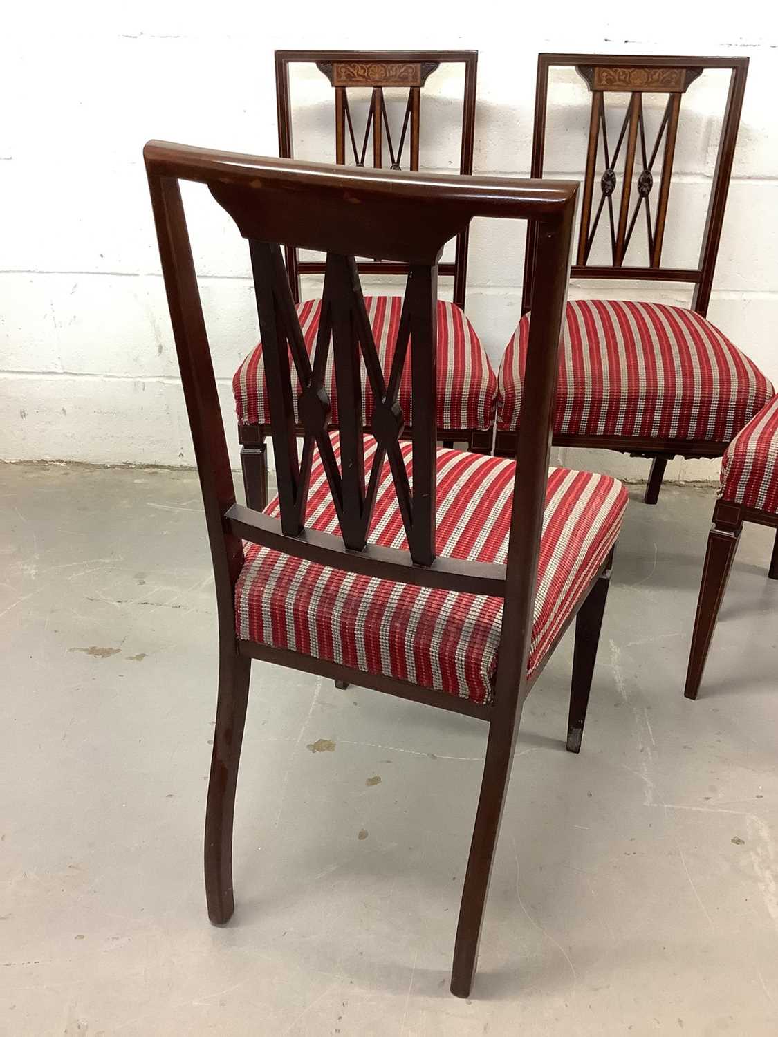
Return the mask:
M362 551L367 543L381 472L388 459L411 557L417 564L432 565L436 523L436 268L410 268L391 369L385 376L353 257L327 255L322 316L311 364L280 246L251 240L250 250L283 533L299 536L304 531L313 451L317 448L343 542L351 551ZM409 347L414 399L413 486L400 450L406 415L399 405L399 386ZM340 464L328 431L331 407L324 383L330 349L339 401ZM289 361L302 386L298 397L303 428L301 453L295 433ZM362 413L363 363L373 399L370 415ZM378 444L369 472L365 469L365 425Z

